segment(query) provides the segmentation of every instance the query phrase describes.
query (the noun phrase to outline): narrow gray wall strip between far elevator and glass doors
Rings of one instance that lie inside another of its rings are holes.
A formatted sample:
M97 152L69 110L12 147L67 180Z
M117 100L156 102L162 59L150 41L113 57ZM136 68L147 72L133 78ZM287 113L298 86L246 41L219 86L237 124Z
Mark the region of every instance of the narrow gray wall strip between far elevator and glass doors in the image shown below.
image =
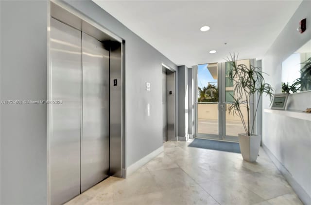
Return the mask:
M188 137L188 68L178 66L178 140Z

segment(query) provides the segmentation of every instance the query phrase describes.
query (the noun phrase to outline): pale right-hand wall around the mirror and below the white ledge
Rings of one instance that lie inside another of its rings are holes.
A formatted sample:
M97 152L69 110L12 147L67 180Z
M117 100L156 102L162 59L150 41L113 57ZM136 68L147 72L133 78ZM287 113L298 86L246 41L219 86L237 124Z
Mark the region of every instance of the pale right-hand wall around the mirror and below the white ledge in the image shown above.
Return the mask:
M281 92L281 63L299 47L311 39L311 1L304 0L298 7L276 41L266 53L262 67L270 76L266 78ZM299 21L307 18L307 30L296 31ZM311 92L289 96L288 109L304 110L310 107ZM263 98L263 108L269 108L269 100ZM278 168L287 170L297 182L294 188L300 198L311 197L311 122L262 112L262 143L279 162ZM300 187L300 188L299 188ZM303 191L305 191L304 194ZM311 203L311 201L309 201Z

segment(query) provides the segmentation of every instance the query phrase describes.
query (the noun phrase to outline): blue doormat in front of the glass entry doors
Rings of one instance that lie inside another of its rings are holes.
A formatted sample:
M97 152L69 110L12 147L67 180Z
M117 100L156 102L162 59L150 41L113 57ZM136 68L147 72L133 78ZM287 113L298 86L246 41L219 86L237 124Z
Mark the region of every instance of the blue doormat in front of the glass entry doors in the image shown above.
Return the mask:
M237 142L222 142L216 140L194 139L188 146L204 149L214 149L225 152L241 153L240 145Z

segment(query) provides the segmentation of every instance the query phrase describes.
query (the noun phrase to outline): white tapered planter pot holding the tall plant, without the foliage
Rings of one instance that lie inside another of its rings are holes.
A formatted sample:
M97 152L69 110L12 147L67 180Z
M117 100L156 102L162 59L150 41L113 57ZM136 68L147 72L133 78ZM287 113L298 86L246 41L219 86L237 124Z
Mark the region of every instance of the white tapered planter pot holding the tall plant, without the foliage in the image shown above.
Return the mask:
M260 135L248 136L245 134L239 134L241 154L245 161L256 161L259 152L260 140Z

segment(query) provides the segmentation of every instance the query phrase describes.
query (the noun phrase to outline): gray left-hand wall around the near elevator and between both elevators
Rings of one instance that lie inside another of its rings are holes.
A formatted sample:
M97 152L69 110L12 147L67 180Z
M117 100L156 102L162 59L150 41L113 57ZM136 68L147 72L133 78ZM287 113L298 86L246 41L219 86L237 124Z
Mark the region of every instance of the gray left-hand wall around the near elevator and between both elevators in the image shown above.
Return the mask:
M46 99L48 3L0 2L1 100ZM128 167L162 146L161 63L175 70L177 66L94 2L66 2L126 42ZM150 92L145 90L146 82L151 83ZM45 105L1 105L0 204L46 204L46 113Z

